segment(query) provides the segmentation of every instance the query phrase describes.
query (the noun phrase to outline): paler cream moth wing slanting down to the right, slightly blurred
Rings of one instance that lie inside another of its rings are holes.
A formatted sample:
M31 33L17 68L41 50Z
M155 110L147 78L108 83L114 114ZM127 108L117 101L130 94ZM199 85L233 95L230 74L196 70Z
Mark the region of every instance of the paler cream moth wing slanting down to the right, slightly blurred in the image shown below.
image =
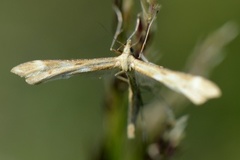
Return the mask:
M221 91L216 84L200 76L172 71L137 59L134 59L132 68L163 83L174 91L182 93L196 105L221 95Z

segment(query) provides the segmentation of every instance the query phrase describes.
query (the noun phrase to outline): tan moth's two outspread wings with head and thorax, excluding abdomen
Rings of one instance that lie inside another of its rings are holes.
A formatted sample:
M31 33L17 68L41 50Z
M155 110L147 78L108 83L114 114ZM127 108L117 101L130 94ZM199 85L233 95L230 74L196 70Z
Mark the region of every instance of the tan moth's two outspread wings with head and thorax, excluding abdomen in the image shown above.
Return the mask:
M28 84L39 84L48 80L69 78L72 75L119 68L123 72L134 70L155 79L167 87L182 93L194 104L200 105L211 98L217 98L221 91L213 82L186 73L172 71L150 62L144 62L131 55L131 40L118 57L76 59L76 60L35 60L12 68L11 72L26 79Z

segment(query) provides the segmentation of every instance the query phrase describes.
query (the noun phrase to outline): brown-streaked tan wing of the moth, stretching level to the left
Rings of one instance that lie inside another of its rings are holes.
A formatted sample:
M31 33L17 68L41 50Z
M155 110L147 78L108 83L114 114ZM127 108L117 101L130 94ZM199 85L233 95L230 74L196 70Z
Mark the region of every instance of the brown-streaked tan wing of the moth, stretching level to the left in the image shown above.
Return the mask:
M22 63L11 72L26 78L28 84L69 78L74 74L107 70L118 67L115 58L79 60L35 60Z

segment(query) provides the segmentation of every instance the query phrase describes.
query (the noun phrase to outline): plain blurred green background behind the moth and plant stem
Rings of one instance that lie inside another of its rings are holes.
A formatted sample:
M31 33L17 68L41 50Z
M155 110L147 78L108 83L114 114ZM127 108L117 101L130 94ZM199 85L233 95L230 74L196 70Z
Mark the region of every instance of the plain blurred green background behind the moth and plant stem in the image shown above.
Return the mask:
M77 76L30 86L10 69L34 59L114 56L111 3L0 1L0 160L86 159L99 143L103 80ZM153 47L161 51L158 64L171 69L184 66L200 38L229 20L240 24L239 0L161 4ZM174 159L240 159L239 42L238 37L226 47L225 60L211 76L223 96L184 110L190 115L187 135Z

